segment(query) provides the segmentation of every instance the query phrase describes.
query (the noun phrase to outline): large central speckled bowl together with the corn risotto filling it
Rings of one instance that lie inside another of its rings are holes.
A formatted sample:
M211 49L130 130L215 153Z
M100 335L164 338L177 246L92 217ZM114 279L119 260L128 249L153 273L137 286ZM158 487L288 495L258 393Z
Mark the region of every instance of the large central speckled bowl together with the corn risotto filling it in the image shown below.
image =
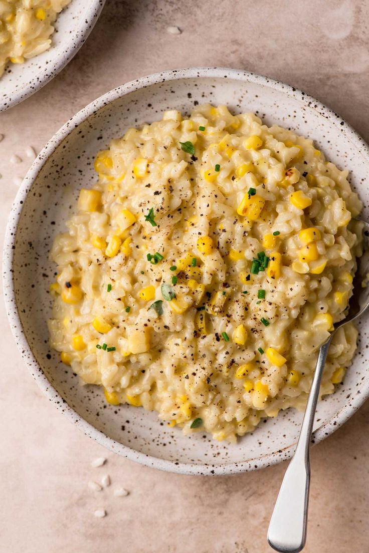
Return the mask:
M218 107L225 105L229 111ZM165 111L162 123L147 124ZM274 127L261 127L259 118ZM323 174L325 159L331 164ZM242 71L165 72L87 106L30 169L4 249L9 319L41 388L86 434L148 466L226 474L290 457L302 414L279 410L303 402L314 360L304 357L302 345L312 340L318 347L351 294L351 254L360 253L360 244L342 202L352 215L361 207L355 192L367 204L368 165L367 145L328 108ZM170 203L179 197L183 213ZM84 274L69 269L76 256ZM277 285L278 270L288 287ZM225 286L213 289L216 282ZM306 293L316 302L305 305ZM300 306L295 333L286 337L283 319ZM58 352L49 345L49 319ZM368 395L365 317L358 331L352 364L354 327L332 345L323 388L329 395L318 405L315 442ZM201 340L204 346L196 345ZM193 365L185 361L191 348ZM211 409L201 404L204 396L214 399Z

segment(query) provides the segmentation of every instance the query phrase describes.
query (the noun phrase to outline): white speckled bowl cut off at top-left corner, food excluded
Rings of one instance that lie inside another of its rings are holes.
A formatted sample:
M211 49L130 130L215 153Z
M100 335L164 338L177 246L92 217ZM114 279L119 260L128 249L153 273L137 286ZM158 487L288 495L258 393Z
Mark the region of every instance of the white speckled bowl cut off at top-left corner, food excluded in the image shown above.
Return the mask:
M8 64L0 78L0 111L22 102L58 75L93 29L105 0L72 0L58 15L51 46L24 64Z

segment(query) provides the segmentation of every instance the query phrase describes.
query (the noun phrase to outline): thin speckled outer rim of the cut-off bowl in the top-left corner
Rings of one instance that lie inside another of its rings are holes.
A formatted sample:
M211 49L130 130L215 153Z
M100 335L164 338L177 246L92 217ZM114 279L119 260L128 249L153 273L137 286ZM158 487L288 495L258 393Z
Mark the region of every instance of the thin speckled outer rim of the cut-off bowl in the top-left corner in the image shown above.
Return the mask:
M79 27L77 40L75 40L75 37L70 37L67 48L63 49L63 51L55 56L54 60L49 62L47 73L43 73L44 68L41 68L27 82L26 86L16 88L13 92L7 92L5 97L2 96L0 98L0 112L16 106L18 103L23 102L23 100L26 100L32 96L35 92L40 90L40 88L47 85L48 82L54 79L54 77L56 77L56 75L58 75L67 64L69 64L70 60L74 58L77 51L79 51L81 46L85 43L87 36L89 36L93 27L95 27L105 2L106 0L92 0L87 3L86 11ZM68 7L69 5L66 6L65 9ZM59 17L60 15L61 14L59 14ZM48 51L50 52L52 49L53 44L51 44L51 48ZM30 60L35 59L37 59L37 56L30 58ZM11 97L10 100L9 97Z

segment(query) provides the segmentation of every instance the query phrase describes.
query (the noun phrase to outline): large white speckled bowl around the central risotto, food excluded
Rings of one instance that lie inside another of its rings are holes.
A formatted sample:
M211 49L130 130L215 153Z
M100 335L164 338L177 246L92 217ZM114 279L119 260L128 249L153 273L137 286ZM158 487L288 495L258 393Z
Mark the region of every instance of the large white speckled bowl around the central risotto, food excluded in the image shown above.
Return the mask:
M97 387L82 387L48 346L49 284L55 267L48 252L64 229L81 186L96 180L97 150L128 126L161 117L164 109L184 112L198 102L227 104L234 112L254 111L315 140L329 159L352 171L352 186L369 199L369 150L339 116L304 92L233 69L167 71L129 82L82 109L50 140L34 161L15 199L4 247L4 290L12 331L35 380L50 401L100 444L145 465L185 474L251 471L291 456L302 415L287 410L262 422L236 445L209 436L185 437L142 408L113 407ZM368 218L367 207L364 216ZM344 384L321 401L314 441L331 434L369 394L368 319L360 321L360 344Z

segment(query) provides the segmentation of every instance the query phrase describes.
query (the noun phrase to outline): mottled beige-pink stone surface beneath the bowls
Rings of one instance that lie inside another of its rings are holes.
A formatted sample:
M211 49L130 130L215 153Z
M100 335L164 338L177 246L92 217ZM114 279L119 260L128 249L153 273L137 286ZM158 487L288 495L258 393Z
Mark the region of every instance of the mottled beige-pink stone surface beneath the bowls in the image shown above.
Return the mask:
M78 0L74 0L78 1ZM369 4L365 1L107 0L87 43L49 85L0 114L1 234L17 186L78 109L145 74L230 66L303 88L369 140ZM178 25L180 35L167 27ZM1 91L1 82L0 82ZM22 163L9 163L12 153ZM0 237L2 240L2 236ZM103 450L43 397L0 314L1 553L267 553L285 465L233 477L154 471ZM369 404L313 448L306 553L367 553ZM101 468L91 461L107 457ZM102 492L87 487L110 474ZM116 486L130 492L113 495ZM107 517L93 517L105 508Z

